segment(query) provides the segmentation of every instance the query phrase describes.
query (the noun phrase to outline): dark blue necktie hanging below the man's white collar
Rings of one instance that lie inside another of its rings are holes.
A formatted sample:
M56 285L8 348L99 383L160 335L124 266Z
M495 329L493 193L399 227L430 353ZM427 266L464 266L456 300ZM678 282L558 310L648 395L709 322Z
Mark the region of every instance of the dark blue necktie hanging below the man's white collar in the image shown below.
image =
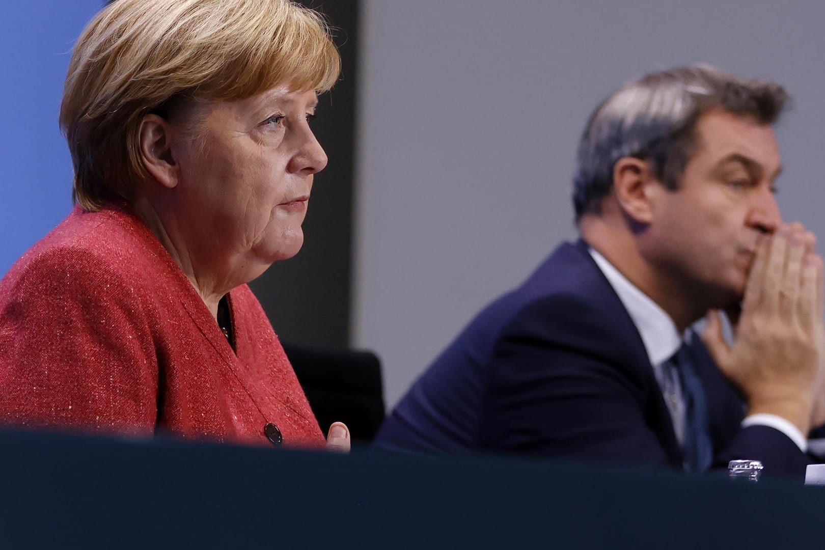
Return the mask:
M713 444L710 442L705 389L696 377L686 344L682 344L679 350L676 350L676 354L665 363L666 365L663 366L676 370L681 383L681 393L685 404L685 430L682 444L685 449L685 466L691 472L705 472L713 461Z

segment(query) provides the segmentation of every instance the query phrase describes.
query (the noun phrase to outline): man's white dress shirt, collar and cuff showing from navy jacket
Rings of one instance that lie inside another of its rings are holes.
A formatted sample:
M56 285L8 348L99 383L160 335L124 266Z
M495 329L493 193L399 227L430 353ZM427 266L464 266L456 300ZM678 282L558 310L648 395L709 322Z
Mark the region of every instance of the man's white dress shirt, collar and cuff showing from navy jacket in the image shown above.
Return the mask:
M622 305L625 306L627 313L633 320L636 330L639 331L639 336L642 336L644 349L648 352L648 359L653 365L653 374L662 386L662 363L670 359L676 353L683 341L683 336L679 334L676 329L676 324L665 311L658 306L658 303L653 302L647 294L637 289L625 275L622 275L605 256L592 248L588 249L593 261L596 261L596 266L599 266L601 273L605 275L607 282L613 287L615 293L619 296ZM689 332L689 331L688 331ZM684 399L684 393L681 393ZM682 408L684 403L681 404ZM670 408L670 407L668 407ZM675 419L674 419L675 420ZM680 423L681 424L681 423ZM742 427L749 425L766 425L780 430L787 435L799 449L803 452L808 450L808 441L805 436L792 422L785 420L781 416L770 414L756 414L748 415L742 420ZM677 438L682 433L681 425L674 424L674 431ZM681 439L680 439L681 443Z

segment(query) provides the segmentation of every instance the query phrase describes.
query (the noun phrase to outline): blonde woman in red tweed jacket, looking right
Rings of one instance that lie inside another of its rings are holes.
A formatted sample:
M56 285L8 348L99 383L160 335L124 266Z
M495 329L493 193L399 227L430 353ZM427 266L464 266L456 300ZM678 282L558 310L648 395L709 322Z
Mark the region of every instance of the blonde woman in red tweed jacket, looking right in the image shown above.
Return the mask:
M89 23L60 112L78 204L0 282L0 421L324 445L247 282L303 243L339 67L286 0L117 0Z

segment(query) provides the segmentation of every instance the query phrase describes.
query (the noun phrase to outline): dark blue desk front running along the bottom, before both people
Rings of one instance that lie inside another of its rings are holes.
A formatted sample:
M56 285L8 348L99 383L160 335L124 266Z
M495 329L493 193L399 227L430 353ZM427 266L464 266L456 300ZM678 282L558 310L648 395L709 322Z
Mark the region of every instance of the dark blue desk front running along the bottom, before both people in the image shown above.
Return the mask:
M0 433L0 548L819 548L825 490L518 458Z

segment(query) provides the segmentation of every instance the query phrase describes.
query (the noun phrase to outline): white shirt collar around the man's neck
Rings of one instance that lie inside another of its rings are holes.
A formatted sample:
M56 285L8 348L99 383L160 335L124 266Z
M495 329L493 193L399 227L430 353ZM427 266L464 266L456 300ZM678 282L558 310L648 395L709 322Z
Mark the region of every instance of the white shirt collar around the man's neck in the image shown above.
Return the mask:
M650 364L656 366L676 353L681 346L681 336L676 323L665 311L653 302L647 294L637 289L625 275L622 275L605 256L593 248L587 249L596 266L605 275L607 282L619 296L622 305L633 320L639 336L642 336L644 349L648 352Z

